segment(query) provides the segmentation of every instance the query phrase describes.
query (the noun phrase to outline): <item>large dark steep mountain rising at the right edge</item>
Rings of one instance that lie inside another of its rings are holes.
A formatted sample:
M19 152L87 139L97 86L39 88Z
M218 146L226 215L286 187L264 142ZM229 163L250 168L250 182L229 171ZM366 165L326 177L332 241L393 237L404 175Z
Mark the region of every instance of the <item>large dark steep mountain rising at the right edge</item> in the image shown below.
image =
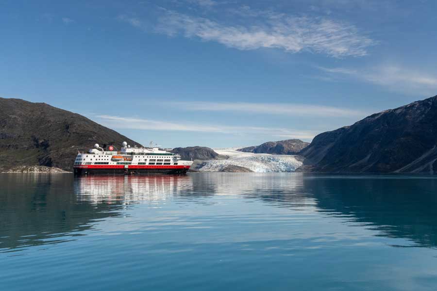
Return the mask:
M437 172L437 96L319 134L301 152L313 172Z

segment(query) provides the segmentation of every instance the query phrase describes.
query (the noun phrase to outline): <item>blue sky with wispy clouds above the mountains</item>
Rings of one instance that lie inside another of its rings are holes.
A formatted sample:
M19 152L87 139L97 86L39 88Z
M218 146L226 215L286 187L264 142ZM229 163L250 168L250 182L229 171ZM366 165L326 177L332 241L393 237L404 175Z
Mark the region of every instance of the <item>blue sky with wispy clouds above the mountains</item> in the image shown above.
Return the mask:
M437 1L0 1L0 97L250 146L437 94Z

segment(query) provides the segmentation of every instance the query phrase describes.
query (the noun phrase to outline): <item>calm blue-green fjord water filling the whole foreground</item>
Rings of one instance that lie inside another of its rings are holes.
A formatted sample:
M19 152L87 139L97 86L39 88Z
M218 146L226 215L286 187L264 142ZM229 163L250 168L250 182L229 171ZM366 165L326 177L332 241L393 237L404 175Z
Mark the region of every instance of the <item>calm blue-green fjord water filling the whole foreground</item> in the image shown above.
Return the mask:
M437 177L0 175L1 290L437 290Z

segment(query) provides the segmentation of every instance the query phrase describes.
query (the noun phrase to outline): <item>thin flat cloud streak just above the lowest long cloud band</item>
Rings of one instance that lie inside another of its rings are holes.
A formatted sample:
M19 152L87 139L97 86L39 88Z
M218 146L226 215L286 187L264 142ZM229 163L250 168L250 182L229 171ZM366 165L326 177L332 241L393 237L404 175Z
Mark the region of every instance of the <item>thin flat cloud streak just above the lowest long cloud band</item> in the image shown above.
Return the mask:
M293 116L324 117L364 117L364 111L331 106L317 106L290 103L249 103L249 102L166 102L188 111L228 111L265 114L288 114Z

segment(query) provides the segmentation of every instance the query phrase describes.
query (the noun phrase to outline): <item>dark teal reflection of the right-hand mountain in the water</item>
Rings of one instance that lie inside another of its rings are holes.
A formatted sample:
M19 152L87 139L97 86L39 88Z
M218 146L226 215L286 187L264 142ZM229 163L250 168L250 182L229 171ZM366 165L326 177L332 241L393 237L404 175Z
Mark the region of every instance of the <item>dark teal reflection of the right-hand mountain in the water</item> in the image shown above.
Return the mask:
M305 176L319 211L348 216L382 236L437 246L437 178Z

